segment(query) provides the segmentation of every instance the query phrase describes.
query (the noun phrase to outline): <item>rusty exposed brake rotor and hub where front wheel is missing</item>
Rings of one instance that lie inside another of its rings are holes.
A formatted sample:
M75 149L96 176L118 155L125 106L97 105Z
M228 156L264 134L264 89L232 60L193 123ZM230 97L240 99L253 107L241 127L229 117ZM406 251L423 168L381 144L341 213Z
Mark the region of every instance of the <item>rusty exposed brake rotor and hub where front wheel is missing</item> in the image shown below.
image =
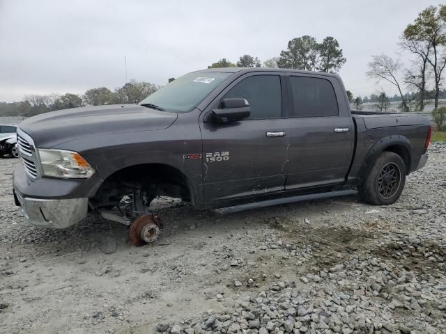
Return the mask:
M155 214L144 214L137 217L130 225L130 241L137 247L156 241L162 232L162 224Z

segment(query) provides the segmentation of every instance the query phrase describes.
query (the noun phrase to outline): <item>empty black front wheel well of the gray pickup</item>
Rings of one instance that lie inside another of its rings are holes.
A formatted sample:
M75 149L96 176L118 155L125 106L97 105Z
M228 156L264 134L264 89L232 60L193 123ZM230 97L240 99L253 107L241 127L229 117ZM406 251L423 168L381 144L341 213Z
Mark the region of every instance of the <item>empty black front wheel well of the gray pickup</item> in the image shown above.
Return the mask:
M187 177L180 170L166 164L139 164L109 175L91 202L96 207L114 206L134 190L146 191L151 198L169 196L193 200Z

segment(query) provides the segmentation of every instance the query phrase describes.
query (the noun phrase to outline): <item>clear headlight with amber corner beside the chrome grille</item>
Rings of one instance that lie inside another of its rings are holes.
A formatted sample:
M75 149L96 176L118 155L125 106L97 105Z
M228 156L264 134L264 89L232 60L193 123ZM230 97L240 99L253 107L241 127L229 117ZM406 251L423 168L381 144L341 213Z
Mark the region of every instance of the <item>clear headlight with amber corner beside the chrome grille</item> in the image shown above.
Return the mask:
M88 179L95 173L95 170L77 152L40 148L38 150L44 176Z

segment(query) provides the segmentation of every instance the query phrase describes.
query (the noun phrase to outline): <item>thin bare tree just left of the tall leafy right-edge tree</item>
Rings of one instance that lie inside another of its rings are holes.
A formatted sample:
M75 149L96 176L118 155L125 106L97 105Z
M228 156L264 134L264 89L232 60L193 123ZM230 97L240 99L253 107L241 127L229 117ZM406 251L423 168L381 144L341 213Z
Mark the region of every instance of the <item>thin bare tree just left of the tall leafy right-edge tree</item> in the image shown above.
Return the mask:
M404 74L404 82L410 86L415 87L420 91L419 93L419 106L420 111L424 110L424 100L426 100L426 81L428 77L427 65L429 62L429 53L431 52L431 42L422 40L415 40L403 34L400 39L399 46L410 51L417 56L417 61L413 61L412 70L406 70Z

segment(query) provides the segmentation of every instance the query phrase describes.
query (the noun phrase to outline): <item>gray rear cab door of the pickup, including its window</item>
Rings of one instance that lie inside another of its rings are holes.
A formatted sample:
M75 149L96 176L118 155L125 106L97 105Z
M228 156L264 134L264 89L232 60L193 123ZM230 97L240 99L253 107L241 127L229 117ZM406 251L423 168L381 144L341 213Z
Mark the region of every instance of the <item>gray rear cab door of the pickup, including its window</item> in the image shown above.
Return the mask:
M286 84L286 189L343 183L355 134L341 84L335 77L297 73L290 73Z

